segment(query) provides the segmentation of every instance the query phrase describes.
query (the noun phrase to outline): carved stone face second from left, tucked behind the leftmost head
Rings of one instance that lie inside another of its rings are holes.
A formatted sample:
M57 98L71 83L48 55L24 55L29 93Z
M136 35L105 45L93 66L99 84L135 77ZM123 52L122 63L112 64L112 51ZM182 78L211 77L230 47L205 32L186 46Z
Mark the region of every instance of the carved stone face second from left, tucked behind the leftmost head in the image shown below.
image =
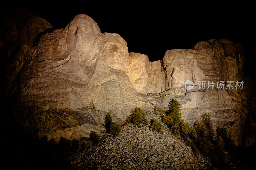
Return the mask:
M128 65L128 48L118 34L104 33L102 59L111 68L126 70Z

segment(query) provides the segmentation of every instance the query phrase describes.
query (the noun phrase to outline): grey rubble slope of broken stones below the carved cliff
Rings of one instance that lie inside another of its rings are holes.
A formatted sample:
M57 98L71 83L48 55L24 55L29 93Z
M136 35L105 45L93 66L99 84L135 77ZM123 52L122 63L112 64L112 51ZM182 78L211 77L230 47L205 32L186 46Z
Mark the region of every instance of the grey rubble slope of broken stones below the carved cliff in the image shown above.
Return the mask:
M160 118L153 112L148 119ZM149 125L149 123L148 123ZM209 161L194 155L183 140L164 127L158 133L149 126L123 126L117 137L108 136L98 145L68 158L74 169L208 169ZM175 145L175 149L172 145Z

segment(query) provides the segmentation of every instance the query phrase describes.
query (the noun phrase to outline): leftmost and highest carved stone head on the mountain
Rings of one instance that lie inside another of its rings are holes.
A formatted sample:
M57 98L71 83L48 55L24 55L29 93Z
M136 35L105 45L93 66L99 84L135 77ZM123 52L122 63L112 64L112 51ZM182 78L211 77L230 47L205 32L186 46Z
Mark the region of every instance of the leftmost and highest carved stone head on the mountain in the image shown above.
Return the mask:
M92 19L83 16L73 18L68 26L67 49L84 58L97 55L99 47L95 44L95 32L99 31Z

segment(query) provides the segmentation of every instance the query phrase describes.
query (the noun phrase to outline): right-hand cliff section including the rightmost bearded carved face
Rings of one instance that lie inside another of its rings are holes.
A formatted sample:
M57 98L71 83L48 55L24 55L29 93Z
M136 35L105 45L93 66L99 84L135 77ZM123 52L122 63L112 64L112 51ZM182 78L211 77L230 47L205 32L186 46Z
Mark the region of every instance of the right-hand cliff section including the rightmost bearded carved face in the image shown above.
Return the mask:
M148 100L166 108L172 98L177 99L182 119L191 126L203 113L210 113L214 127L225 128L234 144L246 141L250 145L255 136L248 134L243 139L241 134L245 135L249 129L255 134L255 105L252 102L255 101L255 87L253 81L244 75L244 58L240 45L224 39L199 42L193 50L168 50L163 64L160 61L155 68L151 67L150 73L157 76L150 78L148 87L150 93L151 89L164 91L157 95L150 94ZM186 90L186 80L193 82L195 87ZM205 81L205 88L198 89L202 81ZM215 83L214 87L209 84L212 81ZM218 81L225 82L224 89L217 88ZM233 88L227 89L228 81L233 81ZM236 81L244 81L242 89L235 87ZM248 118L251 121L249 127L245 125Z

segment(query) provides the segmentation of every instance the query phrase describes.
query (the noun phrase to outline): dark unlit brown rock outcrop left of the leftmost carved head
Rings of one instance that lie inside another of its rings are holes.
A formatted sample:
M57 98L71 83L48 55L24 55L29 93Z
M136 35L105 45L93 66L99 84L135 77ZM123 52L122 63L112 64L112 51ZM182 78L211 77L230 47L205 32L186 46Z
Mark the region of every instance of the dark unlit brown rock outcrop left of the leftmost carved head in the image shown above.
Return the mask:
M52 25L42 18L34 16L24 9L1 11L0 53L2 54L1 72L5 72L6 86L3 96L12 93L13 81L23 65L31 59L34 46L40 37L50 30ZM6 66L8 66L6 68ZM1 77L2 78L2 77ZM2 96L1 95L1 96Z

